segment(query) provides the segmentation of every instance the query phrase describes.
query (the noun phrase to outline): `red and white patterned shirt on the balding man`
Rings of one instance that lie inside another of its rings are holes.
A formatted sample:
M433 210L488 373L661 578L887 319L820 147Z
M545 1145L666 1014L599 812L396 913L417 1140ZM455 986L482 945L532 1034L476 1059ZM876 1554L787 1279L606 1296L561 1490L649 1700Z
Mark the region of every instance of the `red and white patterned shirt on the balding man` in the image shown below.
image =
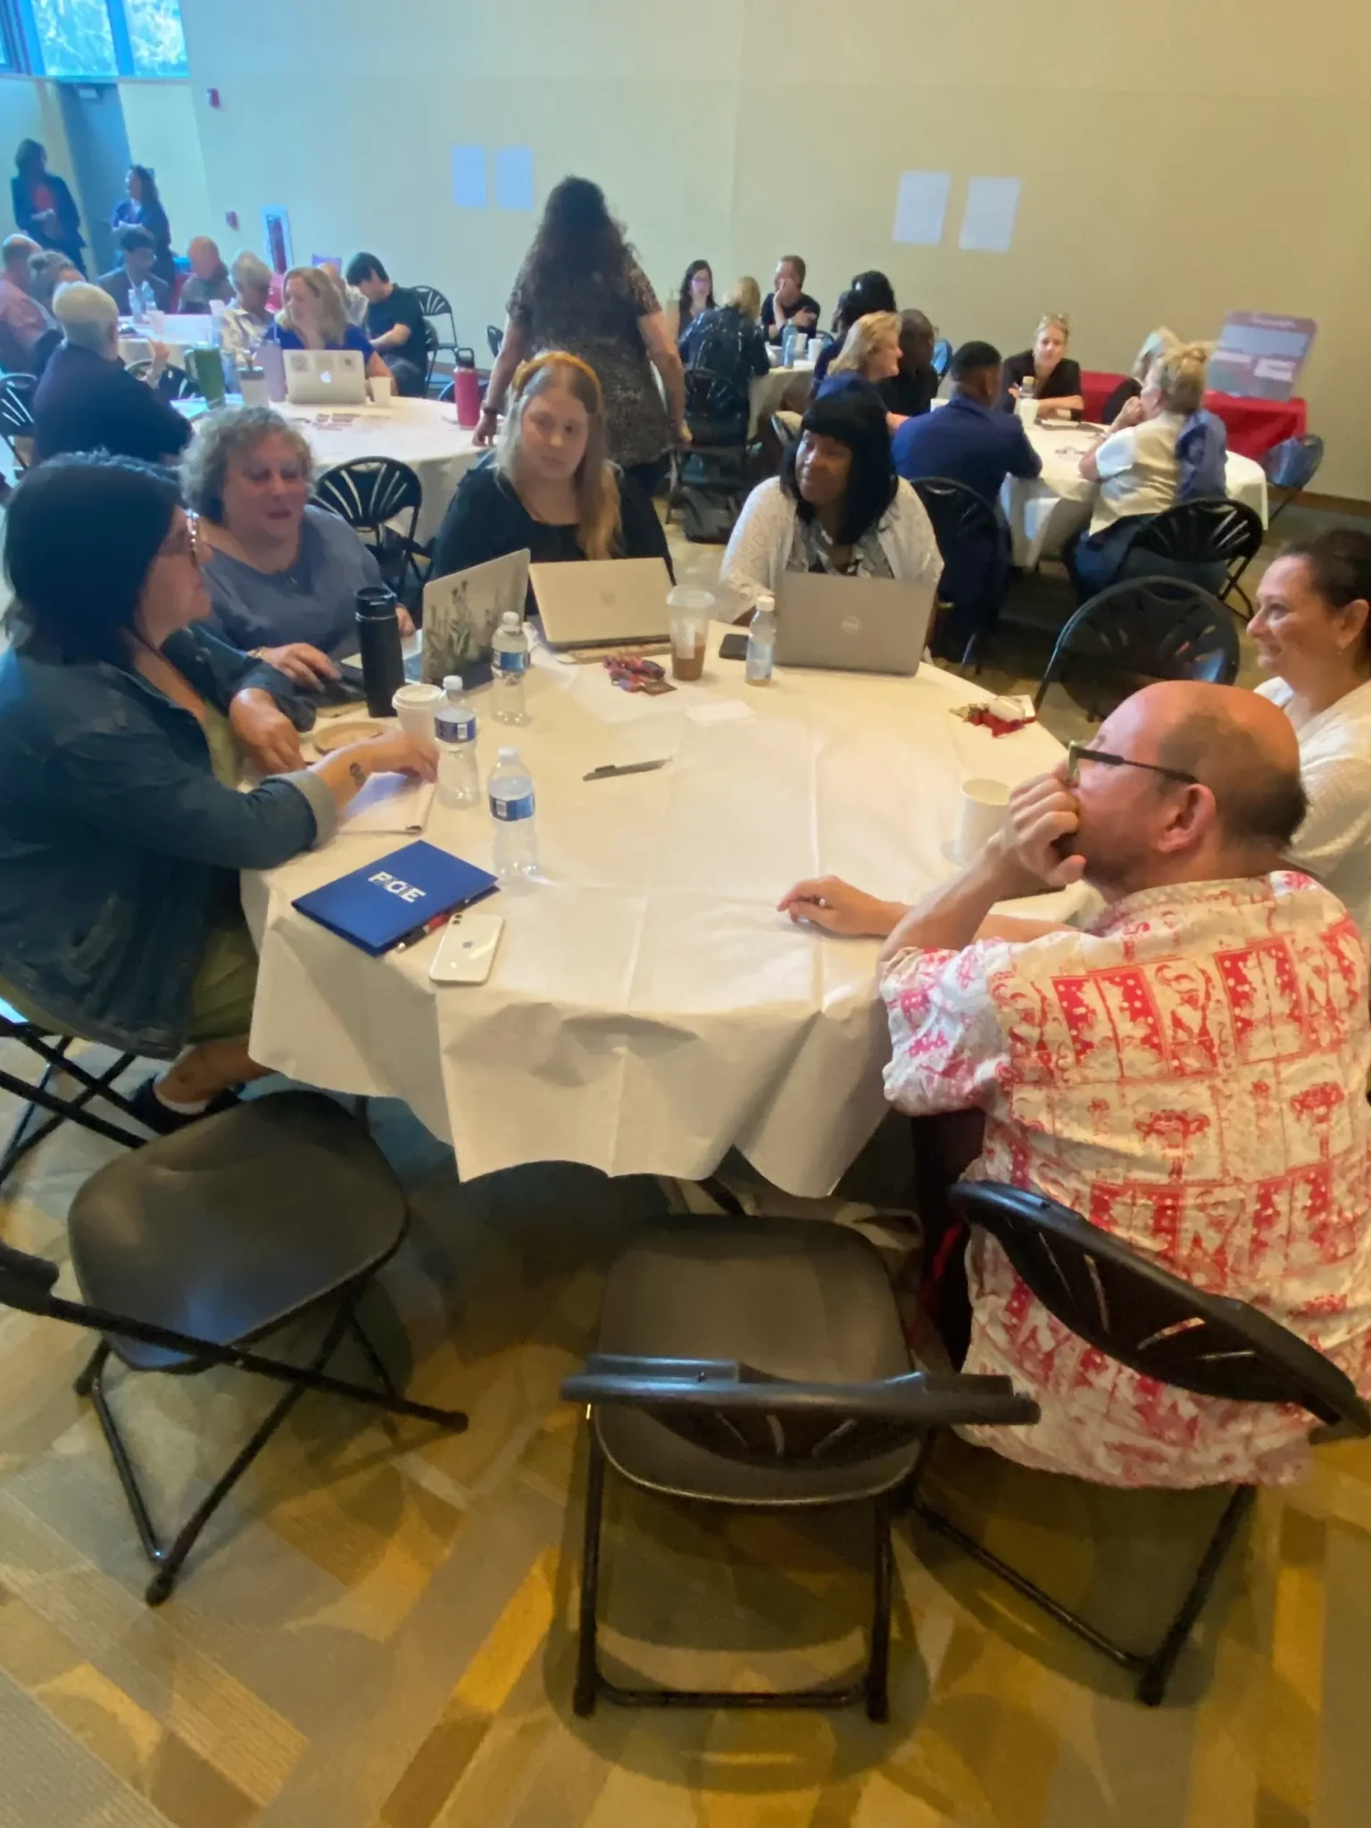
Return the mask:
M1062 1201L1185 1281L1252 1302L1371 1393L1367 952L1340 901L1278 872L1150 888L1086 930L912 951L881 985L885 1089L910 1115L980 1108L972 1181ZM1280 1484L1303 1409L1157 1384L1069 1333L993 1238L969 1250L965 1369L1042 1406L969 1428L1102 1484Z

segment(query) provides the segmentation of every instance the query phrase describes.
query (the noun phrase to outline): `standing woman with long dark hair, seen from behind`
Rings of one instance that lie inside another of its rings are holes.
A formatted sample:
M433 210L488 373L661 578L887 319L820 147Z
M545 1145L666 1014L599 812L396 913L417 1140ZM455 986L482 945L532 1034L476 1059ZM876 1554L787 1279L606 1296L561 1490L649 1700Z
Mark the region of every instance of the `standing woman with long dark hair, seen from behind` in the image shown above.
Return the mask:
M475 444L494 442L514 371L539 349L563 349L596 371L609 455L653 494L673 439L689 442L684 373L656 292L587 177L563 177L547 199L514 282Z

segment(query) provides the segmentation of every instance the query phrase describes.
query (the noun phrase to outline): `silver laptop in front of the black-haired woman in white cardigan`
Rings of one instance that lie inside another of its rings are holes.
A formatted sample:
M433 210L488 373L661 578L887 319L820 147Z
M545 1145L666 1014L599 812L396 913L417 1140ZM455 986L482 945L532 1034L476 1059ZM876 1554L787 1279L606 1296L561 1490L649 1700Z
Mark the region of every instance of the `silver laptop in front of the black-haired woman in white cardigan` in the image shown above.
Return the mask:
M777 665L918 673L932 603L930 583L786 572L775 605Z

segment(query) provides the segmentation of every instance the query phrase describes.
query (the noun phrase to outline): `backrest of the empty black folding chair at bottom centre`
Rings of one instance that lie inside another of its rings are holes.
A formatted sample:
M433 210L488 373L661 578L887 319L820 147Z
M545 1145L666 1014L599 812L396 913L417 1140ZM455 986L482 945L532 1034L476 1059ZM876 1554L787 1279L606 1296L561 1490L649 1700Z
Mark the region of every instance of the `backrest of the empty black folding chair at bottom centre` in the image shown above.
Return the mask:
M930 1428L1036 1422L1005 1376L910 1371L874 1384L808 1384L713 1358L598 1353L563 1380L569 1402L643 1409L682 1440L749 1466L857 1466Z

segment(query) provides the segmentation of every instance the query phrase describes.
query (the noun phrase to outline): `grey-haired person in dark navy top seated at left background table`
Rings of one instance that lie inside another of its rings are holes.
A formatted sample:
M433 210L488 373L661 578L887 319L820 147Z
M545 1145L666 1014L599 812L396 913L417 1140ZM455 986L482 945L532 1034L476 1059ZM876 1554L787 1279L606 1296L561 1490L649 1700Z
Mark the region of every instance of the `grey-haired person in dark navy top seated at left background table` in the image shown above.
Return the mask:
M84 280L58 289L53 314L62 342L33 393L38 459L58 452L119 452L146 462L179 457L190 426L155 389L166 347L152 344L148 380L135 380L119 360L119 307L102 285Z

